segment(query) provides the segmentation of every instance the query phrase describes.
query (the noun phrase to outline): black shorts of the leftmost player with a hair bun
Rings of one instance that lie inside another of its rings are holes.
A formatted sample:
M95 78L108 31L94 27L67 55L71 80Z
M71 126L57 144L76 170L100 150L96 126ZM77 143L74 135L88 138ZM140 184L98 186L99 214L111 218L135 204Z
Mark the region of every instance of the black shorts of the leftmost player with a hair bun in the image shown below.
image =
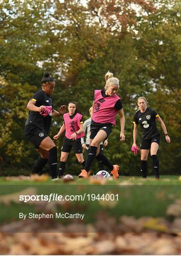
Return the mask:
M27 139L29 139L36 147L39 148L41 142L48 137L45 130L40 129L35 125L26 125L24 129L24 134Z

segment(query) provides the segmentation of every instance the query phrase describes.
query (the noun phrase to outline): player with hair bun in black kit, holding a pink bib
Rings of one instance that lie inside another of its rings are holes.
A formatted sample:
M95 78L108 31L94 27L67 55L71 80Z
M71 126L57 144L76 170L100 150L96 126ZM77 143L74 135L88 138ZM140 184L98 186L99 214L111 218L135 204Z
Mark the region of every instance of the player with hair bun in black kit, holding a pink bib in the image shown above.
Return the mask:
M61 106L59 112L54 110L52 94L54 92L54 79L45 72L41 80L42 90L36 91L27 103L29 115L25 124L25 137L36 147L40 158L35 162L31 174L40 173L48 162L52 180L57 179L57 148L48 136L51 119L63 115L66 106Z

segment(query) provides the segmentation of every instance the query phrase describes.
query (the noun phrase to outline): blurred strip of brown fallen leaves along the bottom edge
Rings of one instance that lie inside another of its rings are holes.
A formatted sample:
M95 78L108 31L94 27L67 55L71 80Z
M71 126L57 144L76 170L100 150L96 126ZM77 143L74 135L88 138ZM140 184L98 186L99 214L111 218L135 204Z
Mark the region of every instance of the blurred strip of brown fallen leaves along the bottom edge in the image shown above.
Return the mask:
M101 214L102 215L102 214ZM108 219L108 217L107 217ZM105 226L104 219L104 226ZM117 223L114 224L116 227ZM29 225L31 227L31 225ZM117 228L118 230L118 228ZM3 255L180 255L181 233L9 233L1 234Z

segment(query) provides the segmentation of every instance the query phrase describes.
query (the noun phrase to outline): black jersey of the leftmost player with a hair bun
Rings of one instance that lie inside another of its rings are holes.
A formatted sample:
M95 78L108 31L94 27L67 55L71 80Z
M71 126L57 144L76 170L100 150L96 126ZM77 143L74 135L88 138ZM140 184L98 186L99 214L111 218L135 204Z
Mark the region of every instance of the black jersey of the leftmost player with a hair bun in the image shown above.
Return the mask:
M51 96L47 95L44 91L36 91L30 100L35 101L35 106L52 106L53 109L53 99ZM29 111L29 115L26 121L26 125L33 124L41 129L45 129L46 133L49 132L52 119L52 111L47 117L43 117L39 112Z

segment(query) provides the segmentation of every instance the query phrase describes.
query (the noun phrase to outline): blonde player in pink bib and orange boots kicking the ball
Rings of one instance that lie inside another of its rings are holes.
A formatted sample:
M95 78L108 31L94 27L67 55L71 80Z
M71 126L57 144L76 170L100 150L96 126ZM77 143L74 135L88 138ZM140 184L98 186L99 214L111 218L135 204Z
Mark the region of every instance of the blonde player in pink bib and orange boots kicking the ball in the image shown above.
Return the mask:
M94 160L94 157L98 161L102 161L103 165L106 165L114 179L118 178L118 165L112 165L105 155L100 152L100 143L109 137L112 126L116 124L116 114L119 114L121 131L120 141L125 140L124 128L125 128L125 117L123 112L123 106L121 99L117 95L119 88L119 80L113 77L112 73L106 73L105 75L106 85L105 90L94 91L93 101L93 114L90 125L90 152L88 154L86 165L79 177L86 178L90 174L90 165Z

